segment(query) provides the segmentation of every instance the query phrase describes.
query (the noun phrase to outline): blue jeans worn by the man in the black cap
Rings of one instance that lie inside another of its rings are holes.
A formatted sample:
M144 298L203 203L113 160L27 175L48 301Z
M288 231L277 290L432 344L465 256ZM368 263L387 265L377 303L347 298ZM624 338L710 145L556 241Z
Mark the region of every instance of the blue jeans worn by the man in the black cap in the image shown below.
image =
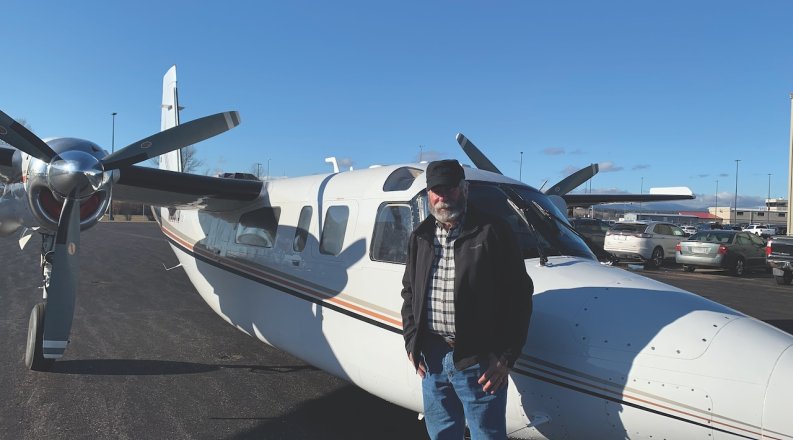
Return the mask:
M465 436L466 420L471 440L507 438L507 386L488 394L478 383L488 361L482 359L478 364L457 370L452 348L442 339L429 336L423 345L427 374L421 381L421 389L430 438L461 440Z

